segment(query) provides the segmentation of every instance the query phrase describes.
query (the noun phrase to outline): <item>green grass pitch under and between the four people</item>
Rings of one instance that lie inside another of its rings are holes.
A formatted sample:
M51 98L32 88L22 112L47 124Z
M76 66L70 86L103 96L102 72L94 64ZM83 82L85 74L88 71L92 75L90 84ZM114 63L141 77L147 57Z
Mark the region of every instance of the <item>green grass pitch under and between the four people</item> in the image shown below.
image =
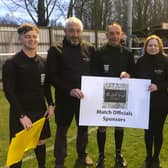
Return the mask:
M6 154L8 149L8 110L9 105L4 98L3 92L0 91L0 168L5 165ZM54 156L53 156L53 144L55 137L55 123L54 118L50 120L50 125L52 129L52 137L47 141L47 168L54 167ZM168 120L164 127L164 144L160 154L160 160L162 168L168 168ZM97 144L96 144L96 128L89 128L89 144L88 153L96 162L98 156ZM122 153L128 161L129 168L140 168L144 158L145 158L145 147L143 140L143 130L142 129L125 129L124 143ZM66 158L65 165L67 168L83 168L76 162L76 147L75 147L75 135L76 126L73 121L71 128L68 132L68 156ZM107 141L106 141L106 168L110 168L114 165L114 129L107 129ZM30 159L30 157L32 157ZM26 161L23 162L23 168L36 168L37 162L33 151L29 151L25 154ZM95 167L95 165L93 166Z

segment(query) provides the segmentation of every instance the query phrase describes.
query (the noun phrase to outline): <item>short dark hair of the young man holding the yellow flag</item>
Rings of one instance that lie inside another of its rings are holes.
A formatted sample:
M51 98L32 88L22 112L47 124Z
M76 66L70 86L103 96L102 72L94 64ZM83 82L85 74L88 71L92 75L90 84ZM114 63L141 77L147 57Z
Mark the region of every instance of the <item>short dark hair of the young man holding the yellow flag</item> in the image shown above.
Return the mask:
M36 30L37 33L39 33L39 28L37 26L30 23L24 23L19 26L19 28L17 29L17 32L20 35L20 34L25 34L28 31L32 31L32 30Z

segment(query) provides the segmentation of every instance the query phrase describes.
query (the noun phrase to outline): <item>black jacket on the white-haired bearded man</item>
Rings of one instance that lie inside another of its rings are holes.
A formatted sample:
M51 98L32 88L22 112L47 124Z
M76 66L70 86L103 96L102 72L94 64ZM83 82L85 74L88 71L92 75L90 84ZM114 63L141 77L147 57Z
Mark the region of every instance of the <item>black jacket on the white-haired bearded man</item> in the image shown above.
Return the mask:
M48 51L48 78L58 95L69 95L73 88L81 87L81 76L90 74L90 58L94 47L82 41L71 45L66 38Z

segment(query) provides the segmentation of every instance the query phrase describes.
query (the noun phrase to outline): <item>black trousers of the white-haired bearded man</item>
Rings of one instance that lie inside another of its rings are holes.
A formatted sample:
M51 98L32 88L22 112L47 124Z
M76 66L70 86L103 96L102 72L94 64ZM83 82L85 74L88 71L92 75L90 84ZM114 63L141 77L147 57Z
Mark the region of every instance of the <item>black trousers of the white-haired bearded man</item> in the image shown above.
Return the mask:
M58 99L55 109L57 124L55 134L54 156L56 165L63 165L67 156L67 132L75 116L77 125L76 150L78 157L85 157L88 144L88 127L79 126L79 100L72 97Z

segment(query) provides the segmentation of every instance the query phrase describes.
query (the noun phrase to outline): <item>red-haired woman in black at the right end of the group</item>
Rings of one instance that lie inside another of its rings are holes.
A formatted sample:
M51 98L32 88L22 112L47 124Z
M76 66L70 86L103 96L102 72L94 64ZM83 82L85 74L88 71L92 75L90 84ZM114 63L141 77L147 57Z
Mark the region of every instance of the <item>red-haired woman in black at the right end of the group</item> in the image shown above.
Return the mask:
M163 125L167 116L168 58L160 37L151 35L144 43L144 55L137 62L137 77L151 79L149 91L149 129L145 130L146 160L144 167L159 168L159 154L163 143ZM154 148L154 152L152 149Z

